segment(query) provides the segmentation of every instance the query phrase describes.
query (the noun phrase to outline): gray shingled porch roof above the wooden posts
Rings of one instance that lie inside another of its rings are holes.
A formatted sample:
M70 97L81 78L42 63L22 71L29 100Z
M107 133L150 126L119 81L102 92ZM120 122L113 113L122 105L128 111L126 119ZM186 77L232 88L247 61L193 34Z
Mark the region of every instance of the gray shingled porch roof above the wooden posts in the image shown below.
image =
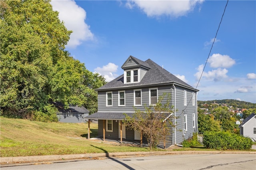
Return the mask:
M132 117L134 113L126 113ZM98 120L123 120L125 118L124 112L96 112L92 115L86 116L86 119L98 119Z

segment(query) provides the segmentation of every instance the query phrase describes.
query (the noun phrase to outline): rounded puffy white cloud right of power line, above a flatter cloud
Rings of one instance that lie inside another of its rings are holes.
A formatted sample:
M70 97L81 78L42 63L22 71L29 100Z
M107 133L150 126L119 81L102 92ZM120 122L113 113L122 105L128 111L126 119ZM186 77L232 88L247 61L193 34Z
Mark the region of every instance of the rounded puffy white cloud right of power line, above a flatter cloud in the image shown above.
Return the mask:
M210 67L213 68L229 68L236 63L236 61L230 58L228 55L221 55L219 53L212 54L212 56L210 56L210 58L208 59L208 62L210 63Z

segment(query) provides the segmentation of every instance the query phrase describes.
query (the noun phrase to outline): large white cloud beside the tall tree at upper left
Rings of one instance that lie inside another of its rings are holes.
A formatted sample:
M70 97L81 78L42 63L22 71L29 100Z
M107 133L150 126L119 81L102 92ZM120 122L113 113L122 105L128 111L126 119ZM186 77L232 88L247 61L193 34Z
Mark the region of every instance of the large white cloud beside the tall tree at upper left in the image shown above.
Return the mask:
M93 40L94 35L90 31L90 26L85 23L86 11L78 6L74 0L52 0L52 9L59 12L60 21L68 30L72 30L70 40L66 47L75 48L82 41Z

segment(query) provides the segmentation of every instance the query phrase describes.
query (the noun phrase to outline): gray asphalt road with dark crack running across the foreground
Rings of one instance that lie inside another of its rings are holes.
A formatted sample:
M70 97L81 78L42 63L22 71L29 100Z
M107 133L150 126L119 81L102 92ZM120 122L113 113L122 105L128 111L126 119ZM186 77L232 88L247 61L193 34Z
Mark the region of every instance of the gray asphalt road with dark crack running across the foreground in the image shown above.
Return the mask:
M16 164L17 165L17 164ZM1 170L256 170L256 154L179 154L1 167Z

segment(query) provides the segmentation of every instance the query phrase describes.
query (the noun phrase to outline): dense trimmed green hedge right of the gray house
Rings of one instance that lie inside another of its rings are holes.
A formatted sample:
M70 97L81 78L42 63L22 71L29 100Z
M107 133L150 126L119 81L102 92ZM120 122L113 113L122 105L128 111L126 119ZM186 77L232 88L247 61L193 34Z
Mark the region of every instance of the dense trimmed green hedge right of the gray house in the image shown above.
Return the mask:
M252 147L252 140L230 132L204 132L203 144L217 150L246 150Z

